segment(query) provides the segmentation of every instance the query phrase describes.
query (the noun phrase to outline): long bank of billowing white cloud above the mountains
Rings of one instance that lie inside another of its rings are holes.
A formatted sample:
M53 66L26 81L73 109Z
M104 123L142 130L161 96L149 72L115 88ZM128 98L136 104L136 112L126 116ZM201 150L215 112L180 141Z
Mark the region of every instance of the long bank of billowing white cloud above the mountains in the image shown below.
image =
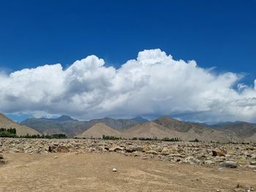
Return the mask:
M159 49L141 51L118 69L90 55L67 69L53 64L0 72L0 111L79 119L170 115L255 122L256 86L239 80L239 74L216 74Z

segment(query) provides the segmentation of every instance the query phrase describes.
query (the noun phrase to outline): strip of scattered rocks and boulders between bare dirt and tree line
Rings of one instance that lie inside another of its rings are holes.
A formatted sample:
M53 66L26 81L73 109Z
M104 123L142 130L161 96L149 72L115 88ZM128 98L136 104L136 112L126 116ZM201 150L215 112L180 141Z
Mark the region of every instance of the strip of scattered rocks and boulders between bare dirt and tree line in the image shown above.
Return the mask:
M101 139L0 139L0 153L121 153L173 164L248 167L256 172L256 144Z

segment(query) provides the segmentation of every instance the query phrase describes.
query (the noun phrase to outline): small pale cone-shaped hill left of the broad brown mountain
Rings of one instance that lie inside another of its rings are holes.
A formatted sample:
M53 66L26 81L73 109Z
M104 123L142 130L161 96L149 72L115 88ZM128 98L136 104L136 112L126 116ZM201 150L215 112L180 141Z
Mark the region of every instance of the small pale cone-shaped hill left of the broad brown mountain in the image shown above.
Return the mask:
M121 137L121 133L109 126L106 126L104 123L96 123L94 126L84 131L82 134L77 135L78 138L102 138L102 135L105 136L115 136Z

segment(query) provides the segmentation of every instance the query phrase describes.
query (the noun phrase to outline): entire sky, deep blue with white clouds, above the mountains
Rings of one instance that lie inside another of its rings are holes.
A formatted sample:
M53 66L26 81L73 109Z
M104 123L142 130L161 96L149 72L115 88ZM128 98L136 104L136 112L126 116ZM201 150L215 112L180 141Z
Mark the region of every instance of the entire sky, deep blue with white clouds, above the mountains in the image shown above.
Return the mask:
M255 0L0 0L0 111L256 122L255 18Z

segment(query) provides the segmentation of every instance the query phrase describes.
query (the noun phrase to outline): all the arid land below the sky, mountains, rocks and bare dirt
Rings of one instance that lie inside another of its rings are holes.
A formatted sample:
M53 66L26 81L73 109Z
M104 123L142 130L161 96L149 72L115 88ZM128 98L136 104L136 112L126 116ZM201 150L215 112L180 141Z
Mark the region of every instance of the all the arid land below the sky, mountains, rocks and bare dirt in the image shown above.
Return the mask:
M208 126L168 117L79 121L67 115L15 123L1 114L0 125L16 131L14 138L0 137L3 192L256 188L253 123ZM44 139L45 134L69 138Z

